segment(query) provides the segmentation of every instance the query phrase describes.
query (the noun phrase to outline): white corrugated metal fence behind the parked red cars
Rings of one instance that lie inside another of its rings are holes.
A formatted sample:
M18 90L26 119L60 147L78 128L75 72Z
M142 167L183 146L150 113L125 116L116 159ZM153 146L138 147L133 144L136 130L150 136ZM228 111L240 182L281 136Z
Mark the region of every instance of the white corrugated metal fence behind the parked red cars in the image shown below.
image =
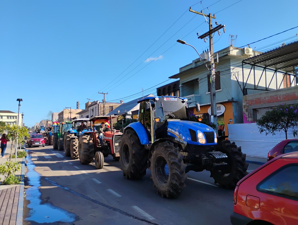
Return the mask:
M284 132L275 135L260 134L255 123L228 124L229 140L241 146L242 152L248 156L267 157L268 152L280 141L285 140ZM292 128L288 130L288 139L294 138ZM297 137L296 137L297 138Z

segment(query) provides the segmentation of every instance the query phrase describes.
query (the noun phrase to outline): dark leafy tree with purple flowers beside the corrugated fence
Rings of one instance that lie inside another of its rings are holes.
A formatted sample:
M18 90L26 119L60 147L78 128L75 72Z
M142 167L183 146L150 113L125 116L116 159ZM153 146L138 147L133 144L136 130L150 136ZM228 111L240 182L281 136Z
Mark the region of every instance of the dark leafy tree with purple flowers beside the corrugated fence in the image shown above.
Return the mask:
M293 128L293 136L297 136L298 126L298 104L278 105L275 109L268 110L256 121L260 133L275 135L276 132L285 132L288 139L288 129Z

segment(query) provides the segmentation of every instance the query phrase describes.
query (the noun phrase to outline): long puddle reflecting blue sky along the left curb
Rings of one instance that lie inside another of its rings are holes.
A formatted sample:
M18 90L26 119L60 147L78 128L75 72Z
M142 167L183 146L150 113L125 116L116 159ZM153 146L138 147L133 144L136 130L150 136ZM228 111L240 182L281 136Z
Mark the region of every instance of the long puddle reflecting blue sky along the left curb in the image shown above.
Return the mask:
M29 185L26 190L26 199L30 201L28 208L30 208L29 217L26 221L35 221L37 223L55 223L66 222L72 223L75 221L76 215L67 212L64 209L53 206L50 203L41 204L41 192L38 187L41 186L41 175L34 170L35 165L31 160L31 154L27 154L27 177L29 178Z

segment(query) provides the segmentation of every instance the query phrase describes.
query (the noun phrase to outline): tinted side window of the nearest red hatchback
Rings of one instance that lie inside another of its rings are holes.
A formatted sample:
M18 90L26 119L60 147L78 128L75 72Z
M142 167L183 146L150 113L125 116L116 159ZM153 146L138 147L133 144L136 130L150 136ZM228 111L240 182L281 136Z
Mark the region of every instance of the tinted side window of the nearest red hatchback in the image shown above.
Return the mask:
M281 167L257 185L257 190L298 200L298 163Z

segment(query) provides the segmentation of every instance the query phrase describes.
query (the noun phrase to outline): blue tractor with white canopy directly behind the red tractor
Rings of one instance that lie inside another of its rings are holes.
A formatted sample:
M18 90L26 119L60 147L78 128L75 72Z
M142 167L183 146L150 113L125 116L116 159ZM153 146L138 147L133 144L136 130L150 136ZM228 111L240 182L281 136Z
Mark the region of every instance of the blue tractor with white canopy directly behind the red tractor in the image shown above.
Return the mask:
M72 120L72 128L66 131L64 135L64 153L72 159L79 158L79 137L84 134L87 129L79 131L79 126L84 123L88 129L89 118Z

